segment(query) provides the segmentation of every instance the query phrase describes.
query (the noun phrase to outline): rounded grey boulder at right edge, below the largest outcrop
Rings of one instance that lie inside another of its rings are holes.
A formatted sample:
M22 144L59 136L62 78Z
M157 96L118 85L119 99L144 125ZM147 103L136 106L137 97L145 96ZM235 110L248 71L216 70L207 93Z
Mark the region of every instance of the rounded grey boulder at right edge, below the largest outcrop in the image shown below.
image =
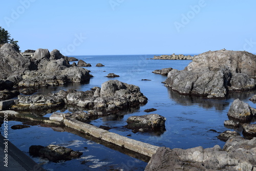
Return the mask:
M249 121L253 116L249 104L239 99L236 99L232 102L227 115L228 117L237 119L239 121Z

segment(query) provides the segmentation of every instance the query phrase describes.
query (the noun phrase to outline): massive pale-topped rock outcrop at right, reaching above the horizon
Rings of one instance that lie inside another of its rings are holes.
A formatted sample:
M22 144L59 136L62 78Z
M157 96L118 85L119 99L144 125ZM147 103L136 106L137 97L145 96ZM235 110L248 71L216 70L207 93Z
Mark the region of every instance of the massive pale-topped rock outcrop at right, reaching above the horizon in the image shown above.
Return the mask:
M224 49L195 56L183 71L170 71L165 83L181 94L224 98L231 91L254 89L255 73L256 55Z

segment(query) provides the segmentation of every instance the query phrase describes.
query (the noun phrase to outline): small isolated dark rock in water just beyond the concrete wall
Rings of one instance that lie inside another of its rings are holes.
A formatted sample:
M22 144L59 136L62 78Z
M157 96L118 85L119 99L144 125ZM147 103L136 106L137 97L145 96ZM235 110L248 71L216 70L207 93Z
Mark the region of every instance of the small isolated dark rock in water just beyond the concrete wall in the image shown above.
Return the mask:
M165 131L165 118L158 114L149 114L142 116L130 116L126 122L127 129L136 132L152 132L152 131Z

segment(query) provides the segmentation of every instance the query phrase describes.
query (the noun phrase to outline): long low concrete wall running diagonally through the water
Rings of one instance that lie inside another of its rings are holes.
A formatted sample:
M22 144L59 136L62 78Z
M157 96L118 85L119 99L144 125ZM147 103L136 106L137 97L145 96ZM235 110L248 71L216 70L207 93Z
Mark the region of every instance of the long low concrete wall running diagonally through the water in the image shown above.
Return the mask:
M21 114L15 111L0 111L0 116L3 116L5 113L8 113L8 116L12 119L27 119L44 123L65 125L71 127L72 129L78 130L81 133L91 135L98 139L116 144L118 146L121 146L122 148L130 149L131 151L148 157L152 157L159 148L159 146L133 140L118 135L116 133L111 133L109 131L100 129L97 126L78 121L75 118L69 117L65 113L54 113L50 118L38 118L32 115Z

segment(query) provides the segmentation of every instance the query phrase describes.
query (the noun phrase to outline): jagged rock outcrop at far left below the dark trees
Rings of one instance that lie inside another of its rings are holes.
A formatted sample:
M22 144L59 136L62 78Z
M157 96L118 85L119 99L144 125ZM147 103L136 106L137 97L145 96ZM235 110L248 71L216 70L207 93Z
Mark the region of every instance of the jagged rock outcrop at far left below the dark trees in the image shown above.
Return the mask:
M89 71L72 67L58 50L37 49L32 57L22 56L14 45L0 49L0 79L10 80L19 87L57 86L67 82L90 79Z

